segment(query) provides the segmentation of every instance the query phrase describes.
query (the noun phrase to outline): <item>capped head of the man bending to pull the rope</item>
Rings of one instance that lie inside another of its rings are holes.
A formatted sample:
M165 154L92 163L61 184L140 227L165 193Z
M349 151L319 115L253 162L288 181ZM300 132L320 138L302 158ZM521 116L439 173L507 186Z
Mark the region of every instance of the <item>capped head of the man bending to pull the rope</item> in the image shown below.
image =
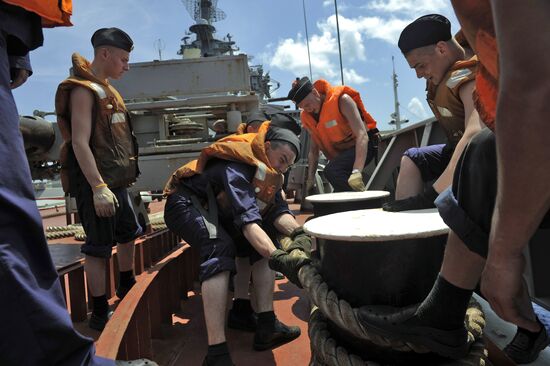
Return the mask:
M265 152L271 167L283 174L300 155L300 140L286 128L270 126L265 134Z

